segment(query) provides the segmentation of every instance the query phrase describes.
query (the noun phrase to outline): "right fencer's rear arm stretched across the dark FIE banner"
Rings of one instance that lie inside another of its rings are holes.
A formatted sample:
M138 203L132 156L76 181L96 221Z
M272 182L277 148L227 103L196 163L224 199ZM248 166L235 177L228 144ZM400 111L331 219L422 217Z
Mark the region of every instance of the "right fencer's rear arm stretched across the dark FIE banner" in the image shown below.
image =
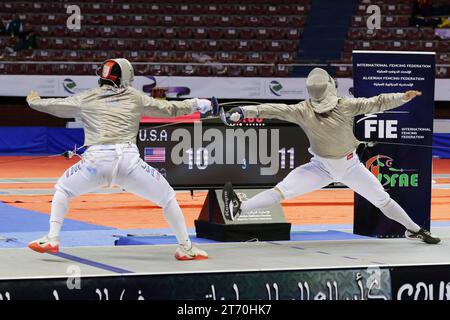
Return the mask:
M398 108L421 95L420 91L410 90L405 93L383 93L371 98L344 98L340 103L345 111L356 116Z

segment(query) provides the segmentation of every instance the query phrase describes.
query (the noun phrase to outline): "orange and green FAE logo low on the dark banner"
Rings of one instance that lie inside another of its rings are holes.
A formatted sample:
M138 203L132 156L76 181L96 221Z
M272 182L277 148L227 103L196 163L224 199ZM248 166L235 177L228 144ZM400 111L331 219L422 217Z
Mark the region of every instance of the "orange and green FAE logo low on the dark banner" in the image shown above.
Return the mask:
M366 168L378 178L383 187L405 188L419 186L419 173L416 169L398 169L394 159L386 155L376 155L366 161Z

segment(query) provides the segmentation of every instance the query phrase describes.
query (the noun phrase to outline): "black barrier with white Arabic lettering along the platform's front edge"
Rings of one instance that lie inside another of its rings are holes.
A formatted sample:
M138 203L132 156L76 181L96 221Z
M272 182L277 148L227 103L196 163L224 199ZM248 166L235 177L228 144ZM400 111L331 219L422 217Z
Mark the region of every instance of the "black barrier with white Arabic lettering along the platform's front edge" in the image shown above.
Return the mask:
M0 300L149 299L450 300L450 265L0 280Z

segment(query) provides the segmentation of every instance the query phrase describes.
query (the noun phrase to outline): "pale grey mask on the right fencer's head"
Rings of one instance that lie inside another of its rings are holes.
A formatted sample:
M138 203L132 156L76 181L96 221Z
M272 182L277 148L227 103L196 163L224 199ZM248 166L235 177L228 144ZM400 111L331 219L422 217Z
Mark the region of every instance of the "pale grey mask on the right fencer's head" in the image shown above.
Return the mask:
M325 113L336 107L338 102L336 83L324 69L314 68L309 73L306 89L315 112Z

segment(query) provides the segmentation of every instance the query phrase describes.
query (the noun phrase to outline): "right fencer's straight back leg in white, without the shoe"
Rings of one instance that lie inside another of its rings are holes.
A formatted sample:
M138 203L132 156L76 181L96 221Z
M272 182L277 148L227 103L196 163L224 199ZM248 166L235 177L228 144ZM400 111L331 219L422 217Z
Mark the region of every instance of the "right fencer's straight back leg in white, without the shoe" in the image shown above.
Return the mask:
M420 227L408 216L400 205L393 200L384 190L380 181L360 162L349 168L342 177L341 182L346 184L356 193L366 198L383 214L400 223L406 229L413 232L420 230Z

